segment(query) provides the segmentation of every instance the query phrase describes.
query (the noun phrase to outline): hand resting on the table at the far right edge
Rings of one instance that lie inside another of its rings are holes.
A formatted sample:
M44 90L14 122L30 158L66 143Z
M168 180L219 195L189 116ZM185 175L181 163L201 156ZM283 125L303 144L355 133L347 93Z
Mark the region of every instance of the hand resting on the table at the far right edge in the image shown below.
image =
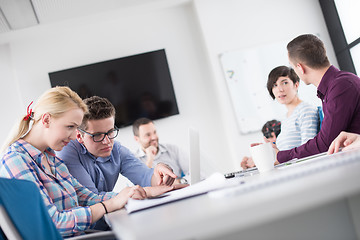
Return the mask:
M331 143L328 154L339 152L340 148L343 151L360 147L360 135L355 133L341 132Z

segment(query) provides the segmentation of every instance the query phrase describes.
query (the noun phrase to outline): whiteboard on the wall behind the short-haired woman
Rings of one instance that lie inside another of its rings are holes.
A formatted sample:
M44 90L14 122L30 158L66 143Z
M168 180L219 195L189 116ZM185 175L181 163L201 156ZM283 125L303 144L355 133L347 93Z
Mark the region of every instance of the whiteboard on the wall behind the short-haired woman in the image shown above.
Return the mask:
M266 88L267 77L277 66L289 66L286 42L220 54L226 84L241 134L261 130L265 122L285 115Z

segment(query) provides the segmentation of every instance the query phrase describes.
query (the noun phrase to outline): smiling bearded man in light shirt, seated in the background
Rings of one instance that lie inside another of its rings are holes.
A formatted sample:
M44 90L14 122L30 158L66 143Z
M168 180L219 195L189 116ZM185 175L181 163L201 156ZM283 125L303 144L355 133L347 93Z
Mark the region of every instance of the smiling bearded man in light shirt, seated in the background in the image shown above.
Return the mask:
M133 133L136 142L139 143L137 156L148 167L154 167L159 163L169 165L178 178L176 183L187 183L189 175L189 158L180 149L172 144L159 144L159 137L155 125L148 118L139 118L133 124Z

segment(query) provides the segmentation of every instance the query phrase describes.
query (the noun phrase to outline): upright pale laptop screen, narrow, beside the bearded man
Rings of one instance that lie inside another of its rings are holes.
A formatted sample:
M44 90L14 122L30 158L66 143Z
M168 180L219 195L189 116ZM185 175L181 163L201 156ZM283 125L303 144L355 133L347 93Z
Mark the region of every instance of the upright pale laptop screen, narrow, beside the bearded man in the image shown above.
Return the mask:
M190 184L192 185L200 181L200 141L198 130L189 128L189 143L189 174Z

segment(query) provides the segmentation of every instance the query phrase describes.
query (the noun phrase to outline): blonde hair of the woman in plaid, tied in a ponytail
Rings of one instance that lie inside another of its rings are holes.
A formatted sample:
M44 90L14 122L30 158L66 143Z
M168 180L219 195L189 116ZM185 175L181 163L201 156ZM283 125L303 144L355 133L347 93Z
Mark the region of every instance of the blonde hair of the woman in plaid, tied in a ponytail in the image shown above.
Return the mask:
M50 88L39 97L32 114L30 116L26 114L14 125L13 131L9 134L1 150L4 151L15 141L24 137L30 130L30 122L37 123L41 120L43 114L49 113L52 117L58 118L63 113L74 108L80 108L84 113L88 110L79 95L69 87L57 86Z

